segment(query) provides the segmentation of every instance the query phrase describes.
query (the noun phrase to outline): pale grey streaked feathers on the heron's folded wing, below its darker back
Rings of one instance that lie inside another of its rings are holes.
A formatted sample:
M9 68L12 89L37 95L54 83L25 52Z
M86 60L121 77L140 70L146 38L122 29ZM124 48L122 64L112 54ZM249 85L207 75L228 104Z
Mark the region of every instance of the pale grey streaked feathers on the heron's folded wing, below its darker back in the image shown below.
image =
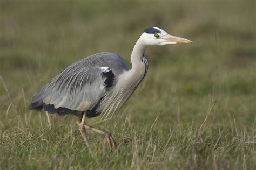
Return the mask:
M100 67L63 72L45 89L43 103L53 104L56 109L59 107L78 111L90 109L105 93L101 74ZM66 81L68 83L64 83ZM78 88L79 82L82 82L81 89Z

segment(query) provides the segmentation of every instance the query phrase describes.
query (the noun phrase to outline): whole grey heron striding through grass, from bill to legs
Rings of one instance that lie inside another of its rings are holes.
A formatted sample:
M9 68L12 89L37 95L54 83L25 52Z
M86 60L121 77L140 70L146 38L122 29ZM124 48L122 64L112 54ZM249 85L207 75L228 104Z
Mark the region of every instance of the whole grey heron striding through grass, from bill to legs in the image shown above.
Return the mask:
M147 46L191 43L171 36L158 27L145 29L131 53L132 68L113 53L97 53L66 67L33 95L29 109L78 116L77 124L87 145L86 130L105 136L110 148L117 147L110 133L85 124L85 118L101 115L111 117L128 100L147 73L149 64L144 56Z

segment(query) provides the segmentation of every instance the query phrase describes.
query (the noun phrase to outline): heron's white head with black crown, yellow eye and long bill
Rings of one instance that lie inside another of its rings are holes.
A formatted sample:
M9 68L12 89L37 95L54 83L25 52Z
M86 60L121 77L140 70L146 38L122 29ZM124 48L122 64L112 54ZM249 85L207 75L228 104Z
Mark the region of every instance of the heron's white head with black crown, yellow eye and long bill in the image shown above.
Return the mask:
M158 27L150 27L144 30L142 33L142 36L139 38L140 41L143 41L143 43L146 46L151 45L167 45L167 44L177 44L177 43L191 43L192 41L171 36L167 32L165 32L162 29L159 29Z

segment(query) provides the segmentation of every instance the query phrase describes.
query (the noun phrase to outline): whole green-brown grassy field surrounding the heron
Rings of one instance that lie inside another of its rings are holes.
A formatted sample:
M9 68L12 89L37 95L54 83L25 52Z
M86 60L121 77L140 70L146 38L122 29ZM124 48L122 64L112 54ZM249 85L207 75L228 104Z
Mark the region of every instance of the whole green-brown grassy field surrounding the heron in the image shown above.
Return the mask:
M256 169L255 1L0 1L0 169ZM146 27L194 41L150 47L149 72L112 119L118 150L75 116L28 110L71 63L130 63ZM6 89L8 92L6 92Z

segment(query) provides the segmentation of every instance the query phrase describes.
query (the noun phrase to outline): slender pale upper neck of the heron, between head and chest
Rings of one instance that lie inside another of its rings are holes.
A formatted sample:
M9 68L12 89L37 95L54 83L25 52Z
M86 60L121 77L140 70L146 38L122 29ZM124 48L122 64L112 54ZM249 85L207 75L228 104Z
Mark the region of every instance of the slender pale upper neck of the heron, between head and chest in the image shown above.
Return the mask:
M146 47L147 46L143 43L143 40L141 38L139 38L132 50L132 54L131 54L132 68L131 68L131 70L133 70L134 68L138 68L141 65L144 65L142 62L142 56L145 53Z

